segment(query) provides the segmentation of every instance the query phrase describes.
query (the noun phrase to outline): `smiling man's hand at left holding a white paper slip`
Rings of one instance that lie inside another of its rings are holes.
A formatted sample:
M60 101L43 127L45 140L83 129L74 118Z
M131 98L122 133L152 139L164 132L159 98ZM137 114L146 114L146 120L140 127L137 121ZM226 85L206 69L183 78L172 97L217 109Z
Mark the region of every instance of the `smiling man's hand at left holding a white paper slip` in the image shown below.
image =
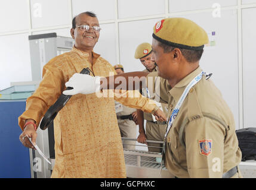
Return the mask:
M20 142L27 148L35 149L33 144L36 144L37 135L38 134L36 134L33 124L28 124L26 126L26 128L24 129L24 131L20 134ZM27 137L31 138L31 141L33 144L30 143L30 141Z

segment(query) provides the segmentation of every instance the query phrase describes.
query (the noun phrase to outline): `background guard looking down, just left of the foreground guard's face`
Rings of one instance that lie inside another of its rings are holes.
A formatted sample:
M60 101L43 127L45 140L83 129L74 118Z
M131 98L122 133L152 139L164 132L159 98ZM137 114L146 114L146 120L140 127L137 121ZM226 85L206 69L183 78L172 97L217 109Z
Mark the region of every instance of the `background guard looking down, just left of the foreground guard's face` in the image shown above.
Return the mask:
M135 59L140 59L141 64L143 64L146 69L144 72L155 72L158 71L158 67L155 64L155 61L151 61L152 56L152 47L150 43L141 43L138 45L137 49L135 50ZM155 99L155 94L152 94L151 91L143 91L143 95L150 98ZM167 102L166 102L167 103ZM168 109L167 104L161 103L158 105L160 109L162 109L167 115ZM155 140L155 141L164 141L164 135L166 132L166 122L158 122L155 120L155 117L150 113L143 113L141 110L137 110L138 114L138 125L139 125L139 132L137 141L139 143L146 143L147 140ZM146 119L146 134L144 131L144 119ZM149 151L153 152L162 152L162 144L159 143L147 143Z

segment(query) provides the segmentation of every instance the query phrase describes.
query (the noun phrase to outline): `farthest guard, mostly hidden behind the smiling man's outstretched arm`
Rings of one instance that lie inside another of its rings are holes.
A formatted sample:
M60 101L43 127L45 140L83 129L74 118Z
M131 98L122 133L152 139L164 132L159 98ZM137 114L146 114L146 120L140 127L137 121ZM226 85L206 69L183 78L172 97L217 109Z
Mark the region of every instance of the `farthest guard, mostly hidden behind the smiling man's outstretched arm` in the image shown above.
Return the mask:
M124 73L124 66L121 64L114 66L116 74ZM136 138L137 137L137 110L122 105L115 101L116 116L118 118L118 126L121 137ZM124 140L124 148L135 149L135 141ZM128 145L131 144L131 145Z

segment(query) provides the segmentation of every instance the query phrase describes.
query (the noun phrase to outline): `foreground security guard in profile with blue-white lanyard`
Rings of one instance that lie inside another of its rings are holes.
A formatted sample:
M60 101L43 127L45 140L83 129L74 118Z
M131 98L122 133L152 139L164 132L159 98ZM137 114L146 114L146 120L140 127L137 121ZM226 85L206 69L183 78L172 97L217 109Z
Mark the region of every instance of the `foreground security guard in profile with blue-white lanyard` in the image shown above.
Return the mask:
M153 28L160 81L153 91L161 88L160 100L169 105L164 163L177 178L242 178L233 114L199 66L207 43L205 30L185 18L166 18Z

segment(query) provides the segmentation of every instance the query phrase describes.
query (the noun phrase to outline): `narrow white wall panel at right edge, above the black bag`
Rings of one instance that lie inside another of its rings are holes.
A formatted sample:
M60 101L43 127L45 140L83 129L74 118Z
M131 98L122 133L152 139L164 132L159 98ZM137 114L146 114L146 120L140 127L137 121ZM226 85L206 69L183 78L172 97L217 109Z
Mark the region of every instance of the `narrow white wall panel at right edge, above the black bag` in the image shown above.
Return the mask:
M256 126L256 8L244 9L242 11L243 28L243 119L244 126Z

